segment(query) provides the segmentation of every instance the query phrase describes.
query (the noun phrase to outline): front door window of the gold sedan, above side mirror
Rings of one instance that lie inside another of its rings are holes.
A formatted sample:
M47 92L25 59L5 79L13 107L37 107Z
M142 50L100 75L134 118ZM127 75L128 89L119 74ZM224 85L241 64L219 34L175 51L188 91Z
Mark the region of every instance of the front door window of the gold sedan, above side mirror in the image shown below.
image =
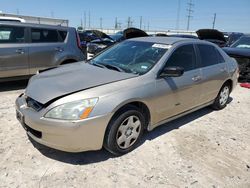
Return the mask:
M193 45L184 45L175 50L167 61L166 66L178 66L185 71L195 69L196 56Z

